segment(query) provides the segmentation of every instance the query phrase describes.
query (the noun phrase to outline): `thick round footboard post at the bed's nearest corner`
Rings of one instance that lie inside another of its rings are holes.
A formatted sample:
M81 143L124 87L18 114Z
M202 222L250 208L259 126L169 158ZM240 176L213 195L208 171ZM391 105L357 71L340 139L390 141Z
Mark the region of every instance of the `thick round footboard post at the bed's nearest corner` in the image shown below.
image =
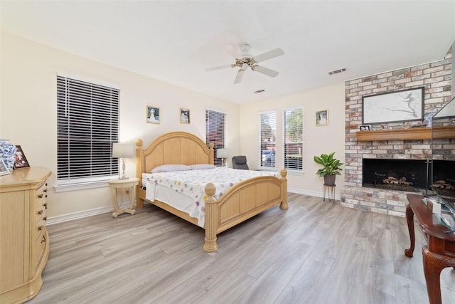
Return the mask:
M208 183L205 185L205 243L203 246L204 251L213 252L218 249L216 243L216 229L218 221L218 210L216 206L215 185Z

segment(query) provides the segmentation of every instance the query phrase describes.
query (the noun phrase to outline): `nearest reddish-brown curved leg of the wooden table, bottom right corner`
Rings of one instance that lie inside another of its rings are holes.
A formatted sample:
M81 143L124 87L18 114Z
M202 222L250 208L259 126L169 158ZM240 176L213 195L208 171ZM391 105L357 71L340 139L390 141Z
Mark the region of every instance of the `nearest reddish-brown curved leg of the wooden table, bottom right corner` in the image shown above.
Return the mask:
M425 281L430 304L441 304L441 271L446 267L455 267L455 258L441 256L423 246Z

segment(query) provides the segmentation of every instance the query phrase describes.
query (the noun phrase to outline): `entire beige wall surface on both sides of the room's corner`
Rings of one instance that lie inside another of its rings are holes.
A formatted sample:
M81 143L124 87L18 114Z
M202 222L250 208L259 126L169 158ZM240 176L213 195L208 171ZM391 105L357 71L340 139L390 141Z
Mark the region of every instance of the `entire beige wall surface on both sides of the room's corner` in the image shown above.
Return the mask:
M344 157L344 84L309 90L303 93L236 105L210 98L126 70L87 60L80 56L49 48L16 36L1 33L1 103L0 138L21 145L33 166L50 169L50 186L56 182L56 75L63 73L95 83L114 85L121 90L120 134L122 142L138 138L144 145L171 131L191 132L205 137L205 108L227 115L226 147L230 154L245 154L252 169L259 161L259 115L264 110L304 108L304 174L289 174L289 191L322 195L322 179L314 174L319 169L315 154L336 151ZM146 105L161 108L161 125L145 122ZM178 122L179 108L191 109L191 124ZM315 126L316 110L328 110L328 125ZM240 123L239 123L240 121ZM281 115L278 115L278 147L282 145ZM277 154L277 163L282 163ZM230 159L228 159L230 165ZM279 167L279 166L277 166ZM134 176L133 159L127 159L127 175ZM343 174L343 173L342 173ZM343 175L337 179L343 187ZM107 187L73 192L50 192L48 217L70 219L81 214L95 214L111 207ZM57 220L56 220L57 219Z

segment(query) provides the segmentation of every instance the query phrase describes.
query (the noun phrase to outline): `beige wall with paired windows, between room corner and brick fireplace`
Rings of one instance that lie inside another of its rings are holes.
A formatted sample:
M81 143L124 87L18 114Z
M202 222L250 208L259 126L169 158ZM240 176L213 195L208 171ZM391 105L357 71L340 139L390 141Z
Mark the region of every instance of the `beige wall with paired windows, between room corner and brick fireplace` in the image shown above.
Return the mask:
M289 191L322 196L323 180L316 176L319 169L314 155L336 152L336 158L344 161L344 83L317 88L279 98L261 100L240 106L240 151L248 159L251 169L259 166L259 112L277 112L277 169L283 164L282 112L287 108L304 109L304 173L289 174ZM328 110L328 125L316 127L316 111ZM344 172L344 171L343 171ZM336 177L336 196L343 187L344 173Z

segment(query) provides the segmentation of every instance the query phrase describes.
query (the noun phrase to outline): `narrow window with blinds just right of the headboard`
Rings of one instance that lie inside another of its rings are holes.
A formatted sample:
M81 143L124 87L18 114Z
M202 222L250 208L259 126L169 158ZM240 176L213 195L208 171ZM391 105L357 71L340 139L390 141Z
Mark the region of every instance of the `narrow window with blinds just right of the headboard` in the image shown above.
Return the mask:
M213 142L214 164L221 167L222 159L217 157L217 150L225 147L225 117L221 112L205 110L205 143Z

